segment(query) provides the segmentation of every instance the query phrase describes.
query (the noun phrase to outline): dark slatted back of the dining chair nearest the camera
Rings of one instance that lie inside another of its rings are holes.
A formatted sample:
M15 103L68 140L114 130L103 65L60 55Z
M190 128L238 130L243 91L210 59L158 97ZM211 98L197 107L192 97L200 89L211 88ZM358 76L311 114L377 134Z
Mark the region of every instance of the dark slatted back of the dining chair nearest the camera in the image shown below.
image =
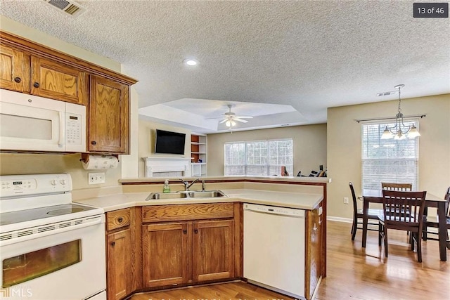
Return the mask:
M402 192L398 190L383 190L383 209L387 227L403 230L417 227L418 230L411 231L421 232L426 195L426 191Z

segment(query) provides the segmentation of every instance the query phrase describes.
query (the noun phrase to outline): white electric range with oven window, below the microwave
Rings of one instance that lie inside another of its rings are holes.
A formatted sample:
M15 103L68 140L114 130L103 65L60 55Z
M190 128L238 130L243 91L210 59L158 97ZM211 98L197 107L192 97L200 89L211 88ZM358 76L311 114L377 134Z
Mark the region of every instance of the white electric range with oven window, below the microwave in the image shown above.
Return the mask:
M72 203L70 174L0 176L7 299L105 300L103 209Z

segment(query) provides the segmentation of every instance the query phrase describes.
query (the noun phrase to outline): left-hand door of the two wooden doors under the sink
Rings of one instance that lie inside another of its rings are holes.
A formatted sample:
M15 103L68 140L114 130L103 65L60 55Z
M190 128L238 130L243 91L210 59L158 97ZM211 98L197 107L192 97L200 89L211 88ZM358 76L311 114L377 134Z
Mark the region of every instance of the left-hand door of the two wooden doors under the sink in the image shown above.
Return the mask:
M143 226L144 287L188 282L189 236L187 222Z

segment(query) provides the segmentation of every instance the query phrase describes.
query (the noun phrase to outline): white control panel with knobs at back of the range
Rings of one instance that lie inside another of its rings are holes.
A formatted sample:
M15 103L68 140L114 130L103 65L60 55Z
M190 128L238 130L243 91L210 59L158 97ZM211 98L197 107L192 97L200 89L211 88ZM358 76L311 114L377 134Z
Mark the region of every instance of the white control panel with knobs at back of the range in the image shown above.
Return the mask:
M70 174L34 174L0 176L0 198L45 193L65 193L72 190Z

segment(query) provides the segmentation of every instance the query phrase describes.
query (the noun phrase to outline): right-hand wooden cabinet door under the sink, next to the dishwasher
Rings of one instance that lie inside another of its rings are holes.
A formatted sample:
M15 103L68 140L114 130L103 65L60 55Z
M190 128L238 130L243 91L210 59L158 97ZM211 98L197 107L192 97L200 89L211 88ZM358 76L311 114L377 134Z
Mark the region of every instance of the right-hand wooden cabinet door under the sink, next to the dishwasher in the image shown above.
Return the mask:
M193 223L193 281L234 276L234 221Z

